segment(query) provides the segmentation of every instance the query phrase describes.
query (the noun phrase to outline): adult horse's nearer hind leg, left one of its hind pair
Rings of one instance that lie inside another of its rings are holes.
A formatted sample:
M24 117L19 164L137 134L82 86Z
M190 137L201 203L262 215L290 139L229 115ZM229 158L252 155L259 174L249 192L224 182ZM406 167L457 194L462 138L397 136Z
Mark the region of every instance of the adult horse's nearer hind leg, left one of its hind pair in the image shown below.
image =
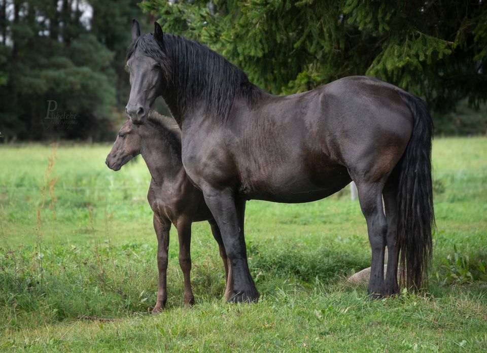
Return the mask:
M360 207L367 221L367 231L372 247L372 266L368 293L372 298L386 294L384 284L384 251L386 249L387 222L382 208L383 183L357 183Z

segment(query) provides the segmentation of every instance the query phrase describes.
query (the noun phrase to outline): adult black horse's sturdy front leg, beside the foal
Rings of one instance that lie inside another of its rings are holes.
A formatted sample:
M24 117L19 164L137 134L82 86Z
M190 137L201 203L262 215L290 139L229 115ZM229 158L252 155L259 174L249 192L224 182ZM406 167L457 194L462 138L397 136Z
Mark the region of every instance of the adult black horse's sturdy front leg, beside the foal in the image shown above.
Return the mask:
M230 262L231 302L255 302L259 293L250 274L247 249L243 235L245 200L235 200L233 190L203 189L206 204L212 211L222 234Z

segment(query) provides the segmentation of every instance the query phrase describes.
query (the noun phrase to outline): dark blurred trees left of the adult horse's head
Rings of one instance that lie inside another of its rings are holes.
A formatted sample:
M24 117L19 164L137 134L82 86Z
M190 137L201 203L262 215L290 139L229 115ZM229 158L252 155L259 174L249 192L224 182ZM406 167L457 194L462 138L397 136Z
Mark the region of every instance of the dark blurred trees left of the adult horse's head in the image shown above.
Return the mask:
M133 17L150 29L134 0L0 0L4 141L112 138L125 117Z

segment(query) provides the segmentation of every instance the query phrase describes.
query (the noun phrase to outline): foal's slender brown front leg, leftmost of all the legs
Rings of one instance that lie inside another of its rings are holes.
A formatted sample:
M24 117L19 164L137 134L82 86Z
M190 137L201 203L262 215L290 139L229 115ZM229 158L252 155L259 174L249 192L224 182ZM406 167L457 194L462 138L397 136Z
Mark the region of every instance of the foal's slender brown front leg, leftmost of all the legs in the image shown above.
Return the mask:
M167 274L167 250L169 248L169 229L171 224L168 220L161 222L159 218L154 214L154 230L157 236L157 269L159 271L159 283L157 289L157 301L156 306L152 310L153 314L156 314L166 305L167 290L166 290L166 274Z

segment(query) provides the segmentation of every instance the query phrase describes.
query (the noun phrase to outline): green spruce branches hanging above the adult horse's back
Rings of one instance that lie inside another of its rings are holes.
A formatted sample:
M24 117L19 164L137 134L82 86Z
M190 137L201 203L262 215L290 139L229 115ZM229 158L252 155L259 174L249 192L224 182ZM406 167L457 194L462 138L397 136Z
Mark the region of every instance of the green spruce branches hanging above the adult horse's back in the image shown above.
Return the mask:
M344 76L396 84L448 112L487 98L484 1L145 1L170 33L204 43L275 94Z

